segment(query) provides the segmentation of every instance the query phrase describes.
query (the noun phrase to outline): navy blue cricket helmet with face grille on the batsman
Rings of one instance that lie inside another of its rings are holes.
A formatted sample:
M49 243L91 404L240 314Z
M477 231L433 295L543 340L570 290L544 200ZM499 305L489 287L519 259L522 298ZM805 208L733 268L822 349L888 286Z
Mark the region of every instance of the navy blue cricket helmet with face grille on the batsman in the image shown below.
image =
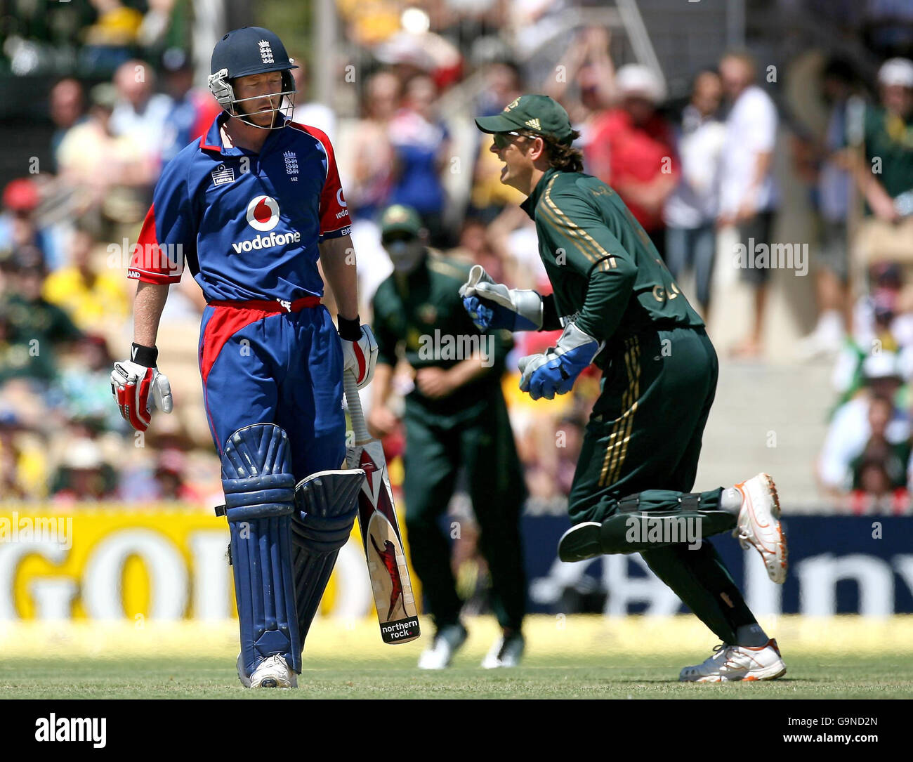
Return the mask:
M238 77L248 77L252 74L266 74L270 71L282 72L282 92L279 106L273 110L273 126L261 128L273 130L285 127L285 120L280 119L276 124L275 114L281 113L285 117L291 116L295 108L295 81L291 76L291 69L298 68L286 52L282 40L278 35L262 26L242 26L233 29L222 37L213 48L209 76L209 91L213 94L219 105L231 116L238 117L254 127L260 127L237 110L237 104L247 99L236 99L234 80Z

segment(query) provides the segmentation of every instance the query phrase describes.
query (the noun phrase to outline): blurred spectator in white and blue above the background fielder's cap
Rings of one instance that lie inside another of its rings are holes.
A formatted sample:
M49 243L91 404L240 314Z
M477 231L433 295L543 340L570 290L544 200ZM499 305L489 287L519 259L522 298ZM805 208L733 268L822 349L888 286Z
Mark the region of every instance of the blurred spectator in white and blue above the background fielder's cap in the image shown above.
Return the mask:
M435 113L437 89L432 78L418 75L405 89L404 107L390 122L396 170L392 204L413 207L422 215L433 246L448 245L444 226L443 171L449 156L449 134Z

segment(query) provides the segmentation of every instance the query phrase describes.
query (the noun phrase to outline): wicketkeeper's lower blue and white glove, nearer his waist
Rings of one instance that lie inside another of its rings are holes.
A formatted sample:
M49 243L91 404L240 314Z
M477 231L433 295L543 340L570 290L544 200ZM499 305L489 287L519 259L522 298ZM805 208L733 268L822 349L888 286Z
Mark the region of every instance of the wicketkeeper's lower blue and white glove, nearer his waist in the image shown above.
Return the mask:
M554 347L519 359L520 391L530 392L533 400L553 400L555 394L566 394L604 346L604 341L568 323Z

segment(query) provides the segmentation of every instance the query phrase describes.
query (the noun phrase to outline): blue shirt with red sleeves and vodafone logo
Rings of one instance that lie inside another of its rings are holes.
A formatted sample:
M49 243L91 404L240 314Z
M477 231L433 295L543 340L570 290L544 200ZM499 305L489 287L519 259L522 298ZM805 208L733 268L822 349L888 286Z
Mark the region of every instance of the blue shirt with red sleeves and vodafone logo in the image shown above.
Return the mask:
M186 266L207 302L323 296L317 245L351 232L330 140L289 121L259 153L225 148L226 119L164 168L128 277L177 283Z

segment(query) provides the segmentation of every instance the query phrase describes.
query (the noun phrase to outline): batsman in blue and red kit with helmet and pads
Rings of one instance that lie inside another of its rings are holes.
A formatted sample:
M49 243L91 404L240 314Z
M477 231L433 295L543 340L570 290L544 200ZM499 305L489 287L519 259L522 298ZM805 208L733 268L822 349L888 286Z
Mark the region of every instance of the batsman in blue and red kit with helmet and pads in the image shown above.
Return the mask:
M333 149L289 120L296 68L268 29L215 45L209 89L223 112L156 185L128 277L137 284L130 360L111 373L121 414L145 431L171 412L156 366L159 318L184 263L207 306L199 339L206 417L222 459L230 563L247 687L294 687L301 650L364 472L345 471L342 374L373 376L358 317L350 220ZM339 306L320 304L318 259ZM296 486L297 485L297 486Z

